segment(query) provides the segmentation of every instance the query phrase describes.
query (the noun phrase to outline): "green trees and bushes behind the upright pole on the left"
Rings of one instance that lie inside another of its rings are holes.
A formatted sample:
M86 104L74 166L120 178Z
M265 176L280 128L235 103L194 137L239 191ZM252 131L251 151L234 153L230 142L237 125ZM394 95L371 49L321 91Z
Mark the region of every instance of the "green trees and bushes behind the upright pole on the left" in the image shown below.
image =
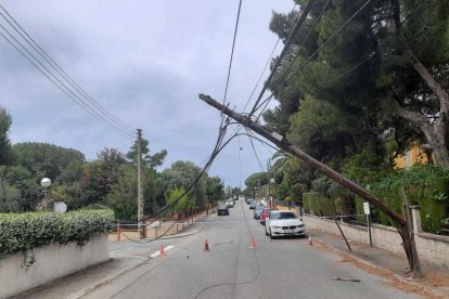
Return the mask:
M68 210L111 208L115 218L137 220L137 144L127 153L102 150L95 159L73 148L46 143L11 144L8 132L12 118L0 107L0 212L27 212L44 209L42 178L52 181L48 190L48 209L64 202ZM176 161L157 171L167 152L150 154L149 142L142 142L144 214L151 217L180 190L188 190L201 168L190 161ZM178 193L177 193L178 192ZM177 206L185 213L206 207L224 197L220 178L206 177L189 193L189 205Z

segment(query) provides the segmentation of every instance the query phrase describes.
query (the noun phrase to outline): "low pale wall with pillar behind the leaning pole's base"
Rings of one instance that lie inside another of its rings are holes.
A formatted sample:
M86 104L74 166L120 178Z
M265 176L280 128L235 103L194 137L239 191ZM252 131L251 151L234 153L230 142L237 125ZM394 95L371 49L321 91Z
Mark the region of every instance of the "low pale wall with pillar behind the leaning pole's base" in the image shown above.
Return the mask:
M423 233L421 229L420 211L412 208L414 239L420 259L431 263L449 268L449 237ZM333 220L321 217L304 214L306 229L317 229L328 233L339 235ZM339 222L342 231L348 239L370 244L368 227ZM406 256L402 239L395 227L373 224L371 227L372 243L374 247Z

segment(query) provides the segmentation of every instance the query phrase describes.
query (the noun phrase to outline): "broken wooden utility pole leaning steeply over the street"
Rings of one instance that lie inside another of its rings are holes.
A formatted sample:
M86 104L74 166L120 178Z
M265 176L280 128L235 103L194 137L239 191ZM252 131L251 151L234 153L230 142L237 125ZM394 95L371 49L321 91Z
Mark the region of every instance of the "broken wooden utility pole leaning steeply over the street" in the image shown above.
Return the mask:
M377 207L381 211L383 211L385 214L387 214L389 218L392 218L398 229L398 232L403 240L403 249L406 251L410 269L413 269L414 264L418 263L418 261L413 261L411 252L413 249L411 248L414 243L410 242L410 226L407 225L406 220L403 220L399 214L390 210L387 206L384 205L384 203L381 202L377 197L370 194L367 190L361 187L360 185L356 184L351 180L347 179L346 177L342 176L341 173L336 172L329 166L320 162L319 160L315 159L313 157L307 155L303 151L300 151L298 147L292 145L287 140L285 140L281 134L274 131L270 131L260 123L254 122L249 117L241 115L232 109L230 109L227 106L221 105L214 99L211 99L208 95L200 94L200 99L209 104L210 106L217 108L221 113L226 114L227 116L233 118L238 122L242 123L244 127L253 130L254 132L258 133L259 135L266 138L267 140L274 143L282 151L290 153L294 155L295 157L298 157L303 161L305 161L307 165L309 165L311 168L316 169L317 171L323 173L324 176L328 176L329 178L333 179L335 182L339 183L344 187L350 190L356 195L359 195L367 202L371 203L375 207ZM414 251L416 249L414 248Z

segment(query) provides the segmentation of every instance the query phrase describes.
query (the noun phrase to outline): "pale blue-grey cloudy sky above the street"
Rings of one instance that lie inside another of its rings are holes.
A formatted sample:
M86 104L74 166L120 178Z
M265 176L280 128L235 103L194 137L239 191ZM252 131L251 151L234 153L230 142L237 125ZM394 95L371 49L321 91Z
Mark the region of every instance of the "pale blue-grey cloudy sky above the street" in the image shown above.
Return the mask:
M151 153L167 150L159 170L177 160L202 166L210 155L221 118L198 93L223 99L239 0L0 4L102 107L129 128L142 129ZM292 0L243 0L227 95L235 110L242 112L278 40L269 30L272 11L288 12L293 5ZM11 30L1 15L0 25ZM5 35L1 27L0 32ZM1 36L0 81L13 144L51 143L91 160L104 147L126 153L133 142L80 108ZM241 136L216 158L209 176L244 187L274 153L257 141L254 146L261 166Z

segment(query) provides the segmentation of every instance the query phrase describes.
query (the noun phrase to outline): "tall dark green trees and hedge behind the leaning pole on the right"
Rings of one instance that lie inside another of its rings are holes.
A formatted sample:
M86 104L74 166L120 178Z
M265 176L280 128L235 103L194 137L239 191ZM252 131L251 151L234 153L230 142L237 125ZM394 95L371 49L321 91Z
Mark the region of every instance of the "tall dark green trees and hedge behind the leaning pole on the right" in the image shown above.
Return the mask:
M264 119L400 213L403 187L424 230L440 233L449 222L449 3L372 1L333 38L364 2L316 1L269 86L279 103ZM297 16L273 13L270 29L285 41ZM395 158L415 145L427 165L398 169ZM268 176L278 199L306 211L362 213L359 198L299 159L275 154Z

